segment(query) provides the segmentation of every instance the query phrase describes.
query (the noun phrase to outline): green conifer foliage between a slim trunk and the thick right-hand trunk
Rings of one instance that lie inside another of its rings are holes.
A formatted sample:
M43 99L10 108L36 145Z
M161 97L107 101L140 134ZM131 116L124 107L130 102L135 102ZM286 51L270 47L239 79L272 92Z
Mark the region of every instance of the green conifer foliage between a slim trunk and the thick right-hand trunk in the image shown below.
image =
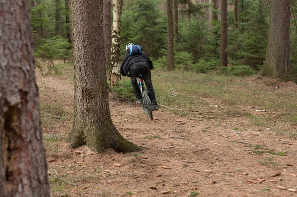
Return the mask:
M239 29L233 27L233 10L228 12L231 27L228 31L227 53L239 65L259 70L265 60L269 7L258 0L242 0L239 7Z

